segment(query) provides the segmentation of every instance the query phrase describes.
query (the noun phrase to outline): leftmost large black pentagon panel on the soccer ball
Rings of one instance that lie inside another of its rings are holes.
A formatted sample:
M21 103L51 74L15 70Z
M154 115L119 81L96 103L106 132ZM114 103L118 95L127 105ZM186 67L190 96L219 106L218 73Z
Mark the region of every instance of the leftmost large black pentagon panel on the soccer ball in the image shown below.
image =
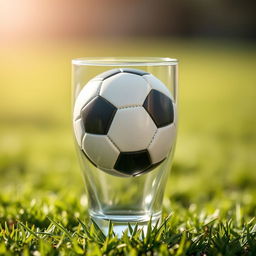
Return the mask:
M107 134L117 108L106 99L98 96L81 111L85 132Z

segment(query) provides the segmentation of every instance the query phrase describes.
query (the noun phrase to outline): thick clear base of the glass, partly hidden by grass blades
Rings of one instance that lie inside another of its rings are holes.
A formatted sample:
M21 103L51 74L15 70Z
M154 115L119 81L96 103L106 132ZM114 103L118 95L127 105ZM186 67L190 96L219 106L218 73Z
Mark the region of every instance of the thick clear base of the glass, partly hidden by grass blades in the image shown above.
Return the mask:
M157 222L159 224L161 220L162 212L157 212L155 214L149 215L123 215L123 214L101 214L90 212L90 217L96 222L96 224L100 227L102 232L107 235L109 228L109 221L112 221L113 231L117 235L117 237L121 237L123 232L128 229L128 223L132 228L138 223L138 229L142 229L144 234L147 233L148 222L151 219L152 227L154 227Z

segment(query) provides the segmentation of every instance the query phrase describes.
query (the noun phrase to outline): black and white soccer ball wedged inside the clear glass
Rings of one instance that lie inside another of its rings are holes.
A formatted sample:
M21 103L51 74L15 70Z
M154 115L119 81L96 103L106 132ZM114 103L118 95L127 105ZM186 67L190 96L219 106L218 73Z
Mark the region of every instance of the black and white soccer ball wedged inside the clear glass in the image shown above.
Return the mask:
M168 156L176 134L170 91L138 69L112 69L90 80L73 112L76 141L97 168L117 176L153 170Z

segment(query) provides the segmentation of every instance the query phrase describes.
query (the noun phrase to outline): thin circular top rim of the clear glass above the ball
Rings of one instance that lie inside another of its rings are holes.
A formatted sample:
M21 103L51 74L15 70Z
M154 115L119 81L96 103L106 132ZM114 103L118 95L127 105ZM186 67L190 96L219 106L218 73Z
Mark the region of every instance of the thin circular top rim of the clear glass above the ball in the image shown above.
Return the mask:
M175 66L178 59L169 57L84 57L72 59L78 66Z

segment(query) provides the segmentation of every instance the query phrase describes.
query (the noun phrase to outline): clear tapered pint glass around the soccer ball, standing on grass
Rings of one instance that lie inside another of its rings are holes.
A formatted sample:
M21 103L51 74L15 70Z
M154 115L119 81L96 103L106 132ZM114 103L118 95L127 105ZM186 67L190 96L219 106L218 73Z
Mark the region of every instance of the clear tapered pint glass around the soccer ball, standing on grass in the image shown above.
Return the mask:
M161 80L169 89L175 106L177 127L177 65L176 59L158 57L80 58L72 60L72 112L80 91L90 79L116 68L138 69ZM171 139L171 138L167 138ZM173 138L172 138L173 139ZM89 215L107 233L109 221L121 235L127 224L138 223L146 228L151 219L161 220L164 190L171 169L175 140L168 156L153 170L137 176L119 177L97 168L85 156L75 139L88 197Z

